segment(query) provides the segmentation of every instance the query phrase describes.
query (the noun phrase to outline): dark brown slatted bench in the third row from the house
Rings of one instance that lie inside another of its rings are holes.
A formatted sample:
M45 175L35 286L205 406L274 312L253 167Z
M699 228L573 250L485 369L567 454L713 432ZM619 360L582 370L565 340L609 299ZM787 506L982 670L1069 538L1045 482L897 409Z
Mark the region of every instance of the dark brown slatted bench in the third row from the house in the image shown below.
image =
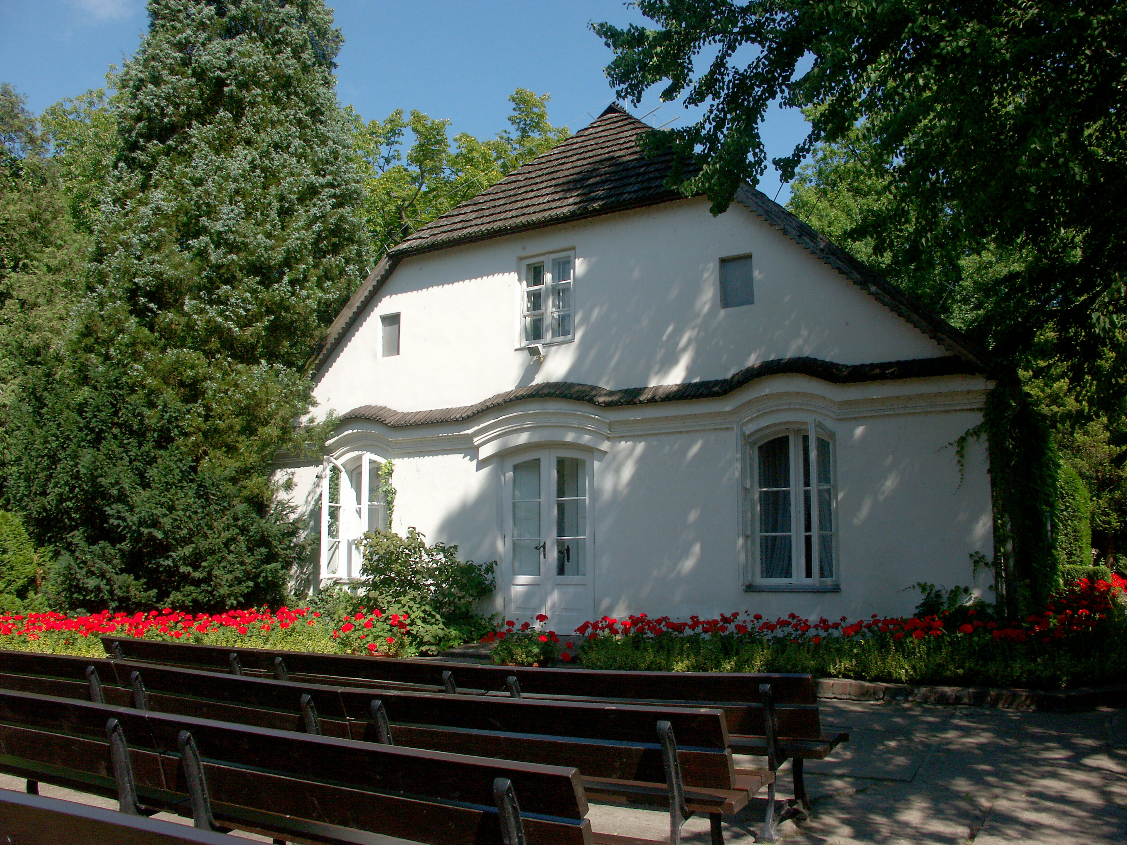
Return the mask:
M12 691L0 691L0 771L131 815L190 807L197 827L301 842L592 842L575 770Z

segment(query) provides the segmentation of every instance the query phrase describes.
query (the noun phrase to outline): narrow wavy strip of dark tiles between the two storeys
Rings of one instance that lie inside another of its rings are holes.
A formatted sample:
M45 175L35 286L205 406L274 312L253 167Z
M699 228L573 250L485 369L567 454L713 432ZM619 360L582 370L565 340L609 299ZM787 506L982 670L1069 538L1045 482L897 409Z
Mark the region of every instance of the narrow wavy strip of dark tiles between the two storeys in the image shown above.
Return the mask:
M482 402L461 408L437 408L427 411L397 411L382 404L365 404L353 408L340 419L369 419L382 422L389 428L407 428L438 422L460 422L498 406L520 402L523 399L568 399L586 402L598 408L623 404L648 404L653 402L684 402L692 399L716 399L727 395L745 384L767 375L795 373L810 375L832 384L855 384L860 382L894 381L898 379L921 379L935 375L965 375L978 372L959 356L942 358L916 358L891 361L884 364L834 364L817 358L775 358L753 364L727 379L713 379L685 384L659 384L653 388L627 388L607 390L594 384L575 382L541 382L524 388L497 393Z

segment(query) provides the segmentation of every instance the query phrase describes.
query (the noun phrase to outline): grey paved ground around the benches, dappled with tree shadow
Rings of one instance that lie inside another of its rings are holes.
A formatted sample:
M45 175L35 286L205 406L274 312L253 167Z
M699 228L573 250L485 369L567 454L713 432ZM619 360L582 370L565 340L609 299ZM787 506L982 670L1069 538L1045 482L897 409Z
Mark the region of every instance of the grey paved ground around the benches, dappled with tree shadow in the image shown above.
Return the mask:
M849 730L851 739L832 759L807 764L814 818L801 827L781 826L788 845L1127 842L1127 710L1021 713L846 701L820 705L823 722ZM758 764L754 758L740 763ZM24 782L0 775L0 788L23 790ZM789 789L784 768L780 797L789 797ZM47 785L41 790L115 806ZM754 842L764 807L756 800L726 825L725 840ZM668 815L663 812L595 806L589 818L601 831L668 835ZM684 842L708 843L708 819L690 819Z

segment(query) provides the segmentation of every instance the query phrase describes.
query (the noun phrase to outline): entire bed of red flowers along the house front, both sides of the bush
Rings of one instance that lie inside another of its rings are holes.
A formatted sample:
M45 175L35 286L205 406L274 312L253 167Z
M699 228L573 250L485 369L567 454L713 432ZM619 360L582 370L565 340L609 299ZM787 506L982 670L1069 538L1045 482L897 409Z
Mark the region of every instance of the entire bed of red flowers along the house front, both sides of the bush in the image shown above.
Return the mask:
M1061 690L1127 681L1127 581L1080 580L1041 613L1021 622L994 619L990 606L922 617L850 622L796 614L721 614L687 622L646 614L604 616L574 634L506 621L483 640L499 664L582 665L597 669L802 671L899 684L1022 686ZM162 611L66 616L0 615L0 648L101 656L99 637L119 634L330 653L408 656L423 629L407 614L361 608L348 615L308 607L189 614Z

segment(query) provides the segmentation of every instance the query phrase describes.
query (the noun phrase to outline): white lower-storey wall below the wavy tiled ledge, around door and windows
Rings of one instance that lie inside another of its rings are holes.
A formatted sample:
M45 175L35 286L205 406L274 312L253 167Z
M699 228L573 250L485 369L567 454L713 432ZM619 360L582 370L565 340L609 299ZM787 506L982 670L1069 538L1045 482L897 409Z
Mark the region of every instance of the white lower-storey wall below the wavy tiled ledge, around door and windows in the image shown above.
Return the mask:
M720 400L588 409L606 430L589 450L592 615L899 614L917 604L917 581L973 586L990 598L990 573L974 573L970 562L973 552L993 551L985 447L969 443L960 473L953 445L982 420L984 386L979 376L861 385L771 376ZM392 457L394 530L415 526L431 542L458 543L463 558L499 560L494 610L509 611L502 468L560 445L560 427L536 420L559 422L561 404L525 401L423 429L356 424L330 447ZM835 443L840 592L745 592L742 451L770 426L810 419ZM497 453L474 446L488 442L483 433L522 424L529 443ZM296 472L295 496L313 500L300 491L316 472Z

